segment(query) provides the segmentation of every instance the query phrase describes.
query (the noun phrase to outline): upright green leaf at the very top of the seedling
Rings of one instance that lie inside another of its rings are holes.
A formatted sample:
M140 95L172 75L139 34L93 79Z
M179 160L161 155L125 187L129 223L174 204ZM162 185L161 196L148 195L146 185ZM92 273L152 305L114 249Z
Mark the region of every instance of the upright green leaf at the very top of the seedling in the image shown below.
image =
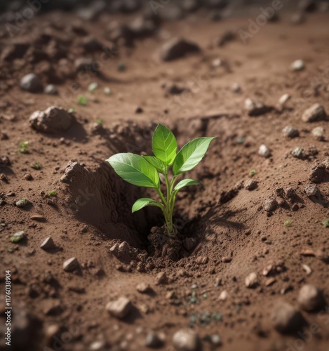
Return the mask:
M173 164L177 152L177 140L173 132L159 124L152 138L152 151L166 165Z

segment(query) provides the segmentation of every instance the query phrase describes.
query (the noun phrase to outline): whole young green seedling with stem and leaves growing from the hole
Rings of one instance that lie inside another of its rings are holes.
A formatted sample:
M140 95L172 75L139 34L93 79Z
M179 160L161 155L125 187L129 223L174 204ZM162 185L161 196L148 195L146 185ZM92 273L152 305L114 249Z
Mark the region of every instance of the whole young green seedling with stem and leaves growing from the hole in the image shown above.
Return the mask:
M177 178L191 171L205 156L210 143L215 138L196 138L177 152L177 140L173 132L159 124L152 138L154 156L140 156L130 152L114 154L107 159L114 171L126 182L140 187L156 190L159 201L149 198L138 199L133 204L132 212L145 206L161 208L166 222L166 232L175 237L177 230L173 224L173 211L177 192L187 185L199 185L193 179ZM166 196L161 191L160 176L166 184Z

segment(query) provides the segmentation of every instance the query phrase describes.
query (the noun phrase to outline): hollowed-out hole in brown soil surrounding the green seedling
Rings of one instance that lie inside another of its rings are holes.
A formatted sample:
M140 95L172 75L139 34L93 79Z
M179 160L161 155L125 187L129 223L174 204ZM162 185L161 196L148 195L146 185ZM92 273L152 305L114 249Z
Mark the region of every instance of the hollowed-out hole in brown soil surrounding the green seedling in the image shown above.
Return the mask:
M182 147L189 140L199 136L220 135L220 131L213 127L215 121L221 117L223 116L215 115L203 119L192 118L189 121L181 119L168 127L176 135L179 147ZM152 134L155 128L156 124L135 124L130 121L112 126L102 135L107 140L108 155L117 152L152 154ZM210 151L213 154L214 149L213 147ZM201 182L206 178L213 178L210 166L213 158L207 158L188 176ZM140 197L154 196L152 190L124 182L105 161L95 164L94 169L87 169L75 161L70 161L62 181L68 185L69 208L80 220L98 227L109 239L121 239L134 248L147 249L152 256L161 256L149 243L149 239L152 239L153 244L155 242L156 245L164 245L163 242L159 242L159 238L163 237L161 230L152 230L152 235L149 236L152 227L163 225L161 211L158 208L147 207L137 213L131 213L133 202ZM184 253L180 253L175 260L180 256L188 256L201 237L196 232L193 238L189 234L189 223L195 222L198 217L197 213L189 211L189 204L191 201L200 202L202 194L202 186L197 189L190 187L187 192L177 197L177 208L182 210L184 216L176 215L175 223L180 232L178 237L181 239L180 246L184 246ZM181 201L184 208L180 206ZM180 210L177 213L180 213ZM167 243L168 247L177 246L177 243L171 241L170 239L170 243Z

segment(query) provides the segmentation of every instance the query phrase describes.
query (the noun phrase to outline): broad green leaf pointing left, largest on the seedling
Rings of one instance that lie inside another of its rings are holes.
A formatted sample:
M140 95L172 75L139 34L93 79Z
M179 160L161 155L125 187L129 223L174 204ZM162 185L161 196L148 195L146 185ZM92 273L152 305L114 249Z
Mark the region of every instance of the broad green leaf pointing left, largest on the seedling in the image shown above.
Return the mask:
M140 187L159 187L159 174L146 159L130 152L114 154L107 159L114 171L126 182Z

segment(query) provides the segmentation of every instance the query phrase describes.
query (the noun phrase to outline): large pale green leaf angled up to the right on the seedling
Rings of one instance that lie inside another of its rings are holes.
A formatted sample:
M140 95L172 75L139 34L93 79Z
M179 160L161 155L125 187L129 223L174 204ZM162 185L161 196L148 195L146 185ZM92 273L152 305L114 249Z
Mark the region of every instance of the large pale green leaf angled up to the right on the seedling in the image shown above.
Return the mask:
M191 171L206 154L210 143L215 138L196 138L185 144L176 155L173 164L173 173L178 176L181 173Z

